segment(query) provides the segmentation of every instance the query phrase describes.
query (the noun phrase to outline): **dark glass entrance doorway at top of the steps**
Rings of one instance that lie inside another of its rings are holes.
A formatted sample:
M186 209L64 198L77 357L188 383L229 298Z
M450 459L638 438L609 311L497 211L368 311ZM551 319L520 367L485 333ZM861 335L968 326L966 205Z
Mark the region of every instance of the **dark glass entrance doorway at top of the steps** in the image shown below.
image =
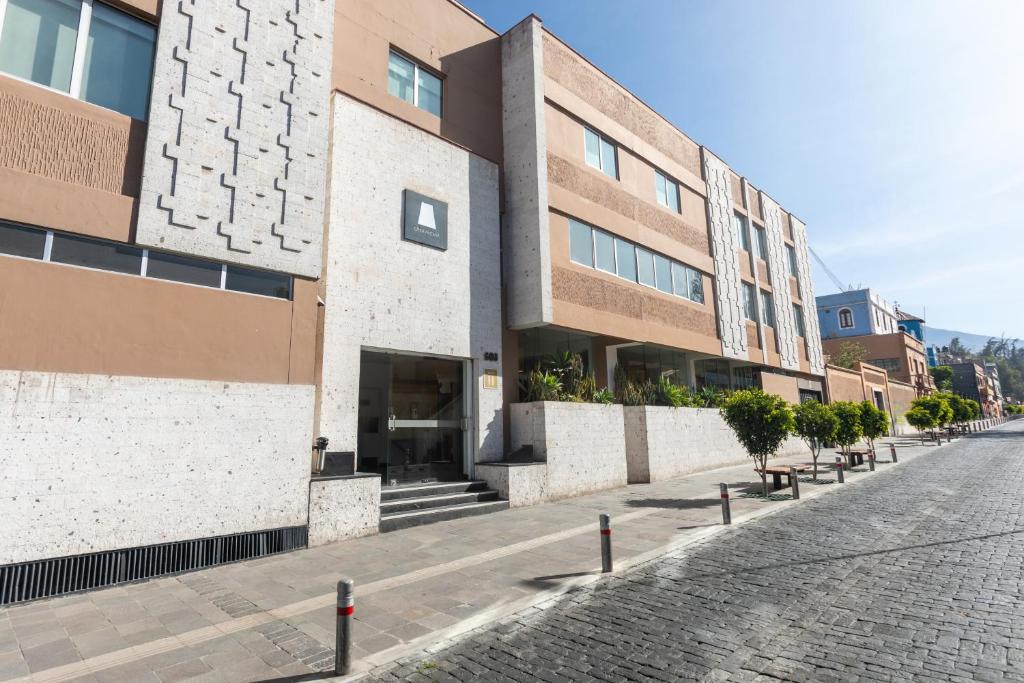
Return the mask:
M364 351L359 471L384 485L466 478L465 361Z

